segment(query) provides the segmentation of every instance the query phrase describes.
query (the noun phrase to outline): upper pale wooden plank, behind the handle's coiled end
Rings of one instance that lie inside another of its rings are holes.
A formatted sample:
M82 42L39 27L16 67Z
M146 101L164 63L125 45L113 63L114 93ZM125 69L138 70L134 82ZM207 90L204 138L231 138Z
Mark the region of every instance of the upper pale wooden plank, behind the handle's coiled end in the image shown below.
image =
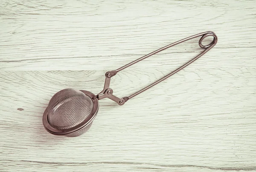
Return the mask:
M117 69L208 30L214 31L219 41L203 60L209 64L207 68L256 66L254 6L256 1L6 1L0 15L0 70ZM174 63L181 57L194 57L194 51L199 51L197 40L155 59L157 63ZM215 63L220 60L221 65ZM155 64L139 65L150 68Z

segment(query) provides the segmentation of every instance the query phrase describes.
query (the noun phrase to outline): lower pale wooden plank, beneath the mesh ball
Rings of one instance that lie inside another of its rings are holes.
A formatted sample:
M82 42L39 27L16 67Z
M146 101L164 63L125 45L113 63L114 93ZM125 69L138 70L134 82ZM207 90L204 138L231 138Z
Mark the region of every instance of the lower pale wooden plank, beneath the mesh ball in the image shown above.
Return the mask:
M124 106L100 100L91 129L78 138L49 134L42 114L60 89L101 91L103 71L2 71L1 168L256 170L255 69L230 70L187 68ZM121 97L165 72L127 70L111 88Z

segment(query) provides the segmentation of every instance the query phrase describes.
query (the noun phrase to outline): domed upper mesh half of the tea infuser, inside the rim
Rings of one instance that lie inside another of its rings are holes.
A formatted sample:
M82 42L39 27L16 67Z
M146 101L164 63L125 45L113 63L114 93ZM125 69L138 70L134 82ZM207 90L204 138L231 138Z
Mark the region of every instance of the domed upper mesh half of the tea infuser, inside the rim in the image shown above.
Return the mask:
M83 122L93 110L92 99L75 89L57 92L48 105L48 122L55 129L70 129Z

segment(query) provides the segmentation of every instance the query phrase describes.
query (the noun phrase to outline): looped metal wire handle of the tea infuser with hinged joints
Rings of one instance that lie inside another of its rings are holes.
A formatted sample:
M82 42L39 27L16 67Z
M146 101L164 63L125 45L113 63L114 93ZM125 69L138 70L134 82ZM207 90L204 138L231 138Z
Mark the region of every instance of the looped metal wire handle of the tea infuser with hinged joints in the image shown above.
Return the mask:
M201 37L202 36L202 37ZM209 36L212 36L213 37L213 40L211 43L209 43L207 46L204 46L202 44L204 38L206 37L209 37ZM134 94L128 96L128 97L123 97L123 98L118 98L116 96L113 95L113 90L111 88L109 88L109 85L110 85L110 80L111 80L111 77L115 76L117 74L117 72L120 72L121 70L125 69L125 68L128 68L129 66L131 65L134 65L135 63L138 63L140 62L141 60L144 60L145 58L148 58L150 57L151 55L154 55L154 54L157 54L158 52L161 52L165 49L168 49L172 46L175 46L177 44L180 44L180 43L183 43L187 40L191 40L191 39L194 39L196 37L201 37L198 44L201 48L205 49L203 52L201 52L200 54L198 54L198 56L194 57L192 60L189 60L186 64L184 64L183 66L180 66L178 69L176 69L175 71L171 72L170 74L162 77L160 80L157 80L155 81L154 83L151 83L149 86L145 87L144 89L141 89L140 91L138 92L135 92ZM110 71L110 72L107 72L105 74L105 84L104 84L104 89L102 90L102 92L100 92L98 95L96 95L95 97L93 97L93 99L95 98L98 98L99 100L100 99L103 99L103 98L110 98L111 100L115 101L116 103L118 103L119 105L123 105L126 101L128 101L129 99L131 99L132 97L146 91L147 89L151 88L152 86L155 86L157 83L160 83L162 82L163 80L165 80L166 78L174 75L175 73L179 72L180 70L184 69L186 66L188 66L189 64L193 63L195 60L197 60L199 57L203 56L205 53L207 53L210 49L212 49L213 46L216 45L218 41L218 37L216 36L216 34L214 32L203 32L203 33L200 33L200 34L195 34L191 37L187 37L187 38L184 38L182 40L179 40L175 43L171 43L167 46L164 46L154 52L151 52L143 57L140 57L139 59L137 60L134 60L132 61L131 63L128 63L126 64L125 66L122 66L120 67L119 69L116 69L116 70L113 70L113 71Z

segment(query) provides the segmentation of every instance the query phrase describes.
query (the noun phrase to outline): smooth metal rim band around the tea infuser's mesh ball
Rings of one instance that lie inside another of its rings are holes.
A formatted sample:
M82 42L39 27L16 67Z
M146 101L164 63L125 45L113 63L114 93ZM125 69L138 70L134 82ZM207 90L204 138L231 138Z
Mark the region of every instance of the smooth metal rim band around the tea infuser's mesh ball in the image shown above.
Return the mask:
M66 135L66 134L70 134L73 132L76 132L84 127L86 127L87 125L89 125L91 122L93 122L94 118L96 117L98 110L99 110L99 100L93 99L93 97L95 96L92 92L88 92L85 90L79 90L81 92L83 92L85 95L87 95L88 97L90 97L93 101L93 109L92 112L90 113L90 115L85 118L85 120L81 123L79 123L77 126L71 127L70 129L55 129L54 127L52 127L47 119L48 116L48 106L44 111L44 115L43 115L43 124L44 124L44 128L54 134L54 135Z

